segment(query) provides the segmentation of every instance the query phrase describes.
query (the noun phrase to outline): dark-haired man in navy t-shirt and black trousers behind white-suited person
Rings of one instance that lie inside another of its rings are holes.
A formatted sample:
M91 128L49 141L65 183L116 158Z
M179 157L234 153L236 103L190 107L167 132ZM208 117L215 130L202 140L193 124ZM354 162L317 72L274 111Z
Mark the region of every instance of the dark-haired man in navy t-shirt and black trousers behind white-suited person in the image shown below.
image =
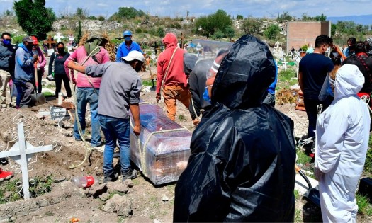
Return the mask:
M328 96L325 101L318 99L325 77L334 68L332 60L325 57L325 52L331 44L332 39L329 36L318 35L315 39L314 52L306 55L300 61L298 84L303 91L303 101L309 120L308 137L315 136L317 105L322 104L323 110L325 110L332 103L331 96ZM306 149L310 154L311 145L308 144Z

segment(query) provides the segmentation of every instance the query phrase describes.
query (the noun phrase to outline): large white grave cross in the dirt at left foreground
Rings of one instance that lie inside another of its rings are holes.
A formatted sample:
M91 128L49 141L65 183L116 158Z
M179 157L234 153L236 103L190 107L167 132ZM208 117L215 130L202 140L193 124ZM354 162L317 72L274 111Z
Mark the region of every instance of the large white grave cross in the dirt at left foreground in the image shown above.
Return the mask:
M47 145L43 147L33 147L32 144L26 142L25 134L23 131L23 122L18 123L18 142L9 149L9 151L0 152L0 158L11 157L18 164L21 164L22 170L22 184L23 184L23 198L30 198L30 192L28 190L28 160L31 156L37 152L50 151L52 150L52 145Z

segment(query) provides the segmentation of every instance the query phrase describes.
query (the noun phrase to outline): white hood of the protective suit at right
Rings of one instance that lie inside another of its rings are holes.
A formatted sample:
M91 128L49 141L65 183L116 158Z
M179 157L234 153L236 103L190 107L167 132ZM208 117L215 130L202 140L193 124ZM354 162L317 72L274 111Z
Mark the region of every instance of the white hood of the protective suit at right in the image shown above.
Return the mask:
M356 65L344 64L336 74L334 98L355 95L361 91L364 76Z

